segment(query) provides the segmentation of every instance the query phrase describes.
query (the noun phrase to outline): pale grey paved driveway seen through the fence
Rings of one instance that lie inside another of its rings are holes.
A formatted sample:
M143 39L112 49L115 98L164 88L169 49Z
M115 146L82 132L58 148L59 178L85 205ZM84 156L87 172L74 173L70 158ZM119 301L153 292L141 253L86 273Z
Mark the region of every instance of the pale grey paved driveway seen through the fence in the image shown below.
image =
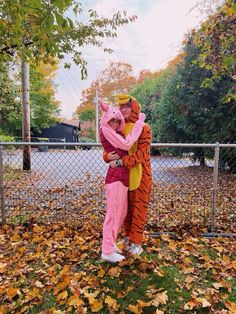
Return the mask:
M13 154L4 154L4 163L17 167L22 165L22 151ZM155 181L177 181L173 168L183 168L198 165L190 158L152 157L152 174ZM70 183L86 175L105 176L108 165L102 159L101 149L91 150L49 150L38 152L32 150L31 168L41 175L42 184L46 181L61 181Z

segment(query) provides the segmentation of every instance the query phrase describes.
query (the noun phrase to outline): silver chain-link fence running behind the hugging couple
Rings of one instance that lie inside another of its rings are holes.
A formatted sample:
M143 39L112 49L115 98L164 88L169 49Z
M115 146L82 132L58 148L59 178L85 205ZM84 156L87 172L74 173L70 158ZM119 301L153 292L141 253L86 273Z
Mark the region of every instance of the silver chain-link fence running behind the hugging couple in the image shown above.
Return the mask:
M149 230L236 231L236 144L151 150ZM100 144L0 143L1 220L102 219L107 167Z

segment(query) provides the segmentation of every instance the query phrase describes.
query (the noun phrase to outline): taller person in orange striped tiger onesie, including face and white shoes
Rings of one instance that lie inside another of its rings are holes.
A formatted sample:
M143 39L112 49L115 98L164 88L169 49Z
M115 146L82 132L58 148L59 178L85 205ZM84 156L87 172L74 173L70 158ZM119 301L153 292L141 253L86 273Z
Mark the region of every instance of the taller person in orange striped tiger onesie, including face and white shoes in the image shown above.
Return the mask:
M116 98L125 118L125 136L127 136L139 118L140 104L129 95L116 95ZM133 144L128 155L122 158L123 165L129 169L128 213L124 221L123 243L126 250L137 255L143 251L141 244L151 193L150 145L151 130L147 124L144 124L138 141ZM103 156L112 167L116 166L115 160L119 157L115 152L104 152Z

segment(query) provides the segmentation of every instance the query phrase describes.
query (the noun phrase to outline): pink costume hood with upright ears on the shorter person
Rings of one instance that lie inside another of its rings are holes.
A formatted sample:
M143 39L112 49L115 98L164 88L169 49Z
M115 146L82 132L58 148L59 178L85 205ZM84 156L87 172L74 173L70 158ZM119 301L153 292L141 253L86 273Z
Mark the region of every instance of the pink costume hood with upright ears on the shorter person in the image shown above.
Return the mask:
M111 119L117 119L120 120L120 125L116 131L122 132L125 126L125 120L122 113L120 112L120 109L109 107L103 102L100 103L100 107L103 110L100 127L103 128L104 126L107 126L111 128L108 122L111 121Z

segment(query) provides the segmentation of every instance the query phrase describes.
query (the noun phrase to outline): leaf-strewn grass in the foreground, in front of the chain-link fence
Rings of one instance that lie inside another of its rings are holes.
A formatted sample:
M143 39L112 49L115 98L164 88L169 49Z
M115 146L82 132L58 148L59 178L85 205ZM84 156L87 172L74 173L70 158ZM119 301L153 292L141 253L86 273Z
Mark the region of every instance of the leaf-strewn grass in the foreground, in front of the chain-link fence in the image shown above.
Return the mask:
M92 213L2 226L0 313L236 313L233 239L146 234L141 257L113 265L101 228Z

